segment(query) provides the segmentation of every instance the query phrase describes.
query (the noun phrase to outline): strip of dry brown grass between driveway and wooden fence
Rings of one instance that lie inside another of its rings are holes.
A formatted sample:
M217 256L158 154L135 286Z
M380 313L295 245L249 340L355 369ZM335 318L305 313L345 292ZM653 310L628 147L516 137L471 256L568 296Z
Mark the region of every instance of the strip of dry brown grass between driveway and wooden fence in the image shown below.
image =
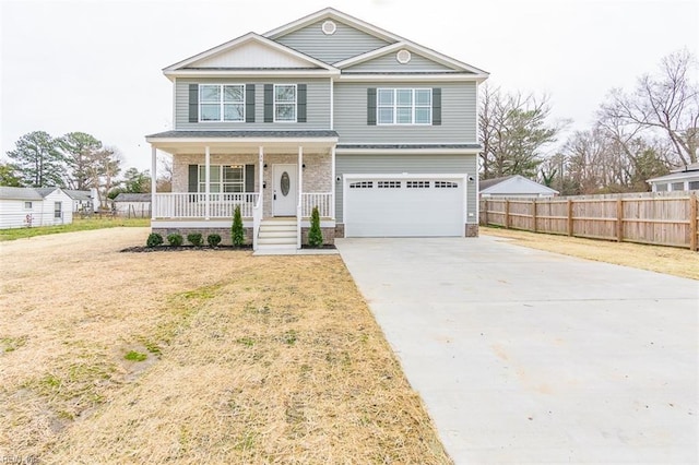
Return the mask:
M491 227L481 227L481 234L507 238L512 243L532 249L699 279L699 253L688 249L582 239Z

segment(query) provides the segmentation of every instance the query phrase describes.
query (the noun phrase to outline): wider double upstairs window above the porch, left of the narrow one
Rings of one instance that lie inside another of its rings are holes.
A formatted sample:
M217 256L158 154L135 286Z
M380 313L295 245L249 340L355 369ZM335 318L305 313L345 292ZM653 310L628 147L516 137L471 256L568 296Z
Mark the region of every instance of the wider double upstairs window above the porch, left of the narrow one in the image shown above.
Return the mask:
M245 84L201 84L200 121L245 121Z

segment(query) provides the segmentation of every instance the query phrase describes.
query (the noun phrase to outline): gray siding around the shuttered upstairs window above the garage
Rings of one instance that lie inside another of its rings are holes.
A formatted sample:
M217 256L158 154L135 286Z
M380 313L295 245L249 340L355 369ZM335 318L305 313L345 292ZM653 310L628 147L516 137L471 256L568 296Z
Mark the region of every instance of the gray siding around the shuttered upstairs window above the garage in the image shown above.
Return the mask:
M440 126L368 126L367 87L440 87ZM335 83L334 129L341 144L477 143L476 84L462 83Z

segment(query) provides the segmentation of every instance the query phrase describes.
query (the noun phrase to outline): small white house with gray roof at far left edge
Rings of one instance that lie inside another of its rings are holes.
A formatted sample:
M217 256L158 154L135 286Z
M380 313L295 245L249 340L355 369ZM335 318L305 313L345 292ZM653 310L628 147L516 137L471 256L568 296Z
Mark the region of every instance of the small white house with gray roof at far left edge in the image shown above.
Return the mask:
M72 223L72 205L61 188L0 187L0 229Z

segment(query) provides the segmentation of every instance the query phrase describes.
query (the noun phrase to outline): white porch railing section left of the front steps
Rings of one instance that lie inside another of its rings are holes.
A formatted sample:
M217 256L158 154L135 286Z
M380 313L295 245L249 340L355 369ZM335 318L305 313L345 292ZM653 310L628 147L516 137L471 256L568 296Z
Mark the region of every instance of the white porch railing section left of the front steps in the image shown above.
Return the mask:
M209 217L233 218L236 205L240 215L252 216L252 207L260 196L248 193L210 193ZM204 218L206 217L206 194L191 192L156 193L153 208L155 218Z

